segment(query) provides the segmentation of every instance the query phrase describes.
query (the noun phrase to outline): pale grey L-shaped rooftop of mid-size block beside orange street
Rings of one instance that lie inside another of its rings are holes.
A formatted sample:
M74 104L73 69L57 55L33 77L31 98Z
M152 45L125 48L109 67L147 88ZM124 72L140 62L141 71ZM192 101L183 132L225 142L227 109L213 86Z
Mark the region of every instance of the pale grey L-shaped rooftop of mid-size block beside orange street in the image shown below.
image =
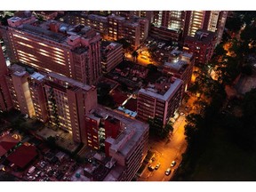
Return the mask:
M172 95L179 89L180 85L182 84L182 80L175 79L175 81L170 85L170 88L163 94L157 93L157 90L154 88L141 88L139 93L154 97L159 100L169 100L172 98Z

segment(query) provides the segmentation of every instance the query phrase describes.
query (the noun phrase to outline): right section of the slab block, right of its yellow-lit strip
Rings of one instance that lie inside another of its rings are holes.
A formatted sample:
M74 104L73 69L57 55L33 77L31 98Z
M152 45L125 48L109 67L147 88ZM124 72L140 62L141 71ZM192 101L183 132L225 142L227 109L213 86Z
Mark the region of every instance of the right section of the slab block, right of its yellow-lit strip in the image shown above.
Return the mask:
M44 93L50 123L72 132L76 142L85 143L85 115L97 106L96 88L49 73L44 83Z

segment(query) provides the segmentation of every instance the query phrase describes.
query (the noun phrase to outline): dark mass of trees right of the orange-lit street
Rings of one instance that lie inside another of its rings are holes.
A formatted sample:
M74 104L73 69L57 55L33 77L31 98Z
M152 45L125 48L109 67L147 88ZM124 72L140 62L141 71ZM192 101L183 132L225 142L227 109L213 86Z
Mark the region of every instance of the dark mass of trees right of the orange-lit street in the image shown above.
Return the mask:
M222 39L208 66L200 66L195 72L196 82L189 91L198 96L194 104L200 112L187 116L188 148L174 180L256 178L256 89L242 99L232 100L227 100L224 89L226 85L232 86L241 73L245 76L253 73L246 58L255 52L249 46L254 41L255 28L250 25L251 20L240 16L235 15L239 20L228 19L227 28L236 33L246 23L241 40L229 36ZM228 52L223 49L227 43ZM217 76L215 80L210 76L212 69Z

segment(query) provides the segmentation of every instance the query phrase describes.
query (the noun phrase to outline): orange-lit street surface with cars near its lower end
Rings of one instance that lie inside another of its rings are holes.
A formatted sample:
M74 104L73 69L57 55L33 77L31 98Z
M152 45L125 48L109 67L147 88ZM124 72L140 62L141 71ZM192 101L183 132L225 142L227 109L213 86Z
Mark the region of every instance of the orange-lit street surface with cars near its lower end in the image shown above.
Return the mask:
M180 116L173 125L172 136L168 140L149 140L149 149L156 153L156 160L152 163L156 166L160 163L158 170L150 172L148 168L138 179L140 181L168 181L171 180L174 170L176 170L181 162L181 155L187 148L187 142L184 135L185 116ZM176 165L172 167L169 176L164 174L165 170L171 167L172 161L176 161Z

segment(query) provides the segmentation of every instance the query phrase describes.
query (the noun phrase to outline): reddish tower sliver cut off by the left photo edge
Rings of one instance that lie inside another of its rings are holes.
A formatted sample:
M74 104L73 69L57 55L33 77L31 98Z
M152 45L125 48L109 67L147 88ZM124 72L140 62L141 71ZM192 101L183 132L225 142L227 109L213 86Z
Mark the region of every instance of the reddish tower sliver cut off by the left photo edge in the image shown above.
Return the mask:
M0 46L0 111L7 111L12 108L12 99L6 84L5 75L8 73L4 60L4 53Z

